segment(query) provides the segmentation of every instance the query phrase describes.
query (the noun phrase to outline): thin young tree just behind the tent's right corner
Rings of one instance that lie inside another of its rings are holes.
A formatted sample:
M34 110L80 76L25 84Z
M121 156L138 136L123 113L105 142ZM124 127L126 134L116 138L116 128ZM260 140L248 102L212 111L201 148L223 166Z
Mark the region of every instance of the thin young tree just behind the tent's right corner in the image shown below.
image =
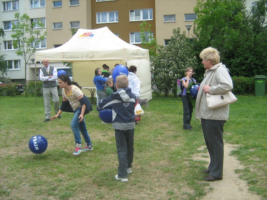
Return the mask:
M139 24L139 27L140 27L140 38L142 47L144 49L149 50L150 72L152 80L153 70L154 70L153 61L157 55L156 50L158 43L156 38L154 38L153 35L151 34L151 28L152 28L151 24L149 24L149 26L147 27L146 21L143 21L143 23Z

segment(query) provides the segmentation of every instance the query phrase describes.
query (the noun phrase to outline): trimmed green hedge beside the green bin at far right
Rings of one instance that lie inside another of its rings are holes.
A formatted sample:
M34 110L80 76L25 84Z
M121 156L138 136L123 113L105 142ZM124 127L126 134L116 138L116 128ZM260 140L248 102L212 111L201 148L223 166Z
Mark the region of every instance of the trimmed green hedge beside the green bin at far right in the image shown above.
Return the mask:
M248 77L233 76L233 93L236 95L254 95L255 93L255 79ZM267 93L265 80L265 94Z

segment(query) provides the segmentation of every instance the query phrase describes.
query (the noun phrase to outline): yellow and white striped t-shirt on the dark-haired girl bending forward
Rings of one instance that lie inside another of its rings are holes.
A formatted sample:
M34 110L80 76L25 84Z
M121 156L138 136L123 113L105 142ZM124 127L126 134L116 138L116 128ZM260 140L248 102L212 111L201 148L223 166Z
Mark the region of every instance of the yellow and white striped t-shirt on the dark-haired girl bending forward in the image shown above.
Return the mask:
M82 95L82 91L76 85L72 85L69 95L66 95L65 88L62 89L62 96L65 97L69 102L73 110L81 107L80 101L77 99L78 96Z

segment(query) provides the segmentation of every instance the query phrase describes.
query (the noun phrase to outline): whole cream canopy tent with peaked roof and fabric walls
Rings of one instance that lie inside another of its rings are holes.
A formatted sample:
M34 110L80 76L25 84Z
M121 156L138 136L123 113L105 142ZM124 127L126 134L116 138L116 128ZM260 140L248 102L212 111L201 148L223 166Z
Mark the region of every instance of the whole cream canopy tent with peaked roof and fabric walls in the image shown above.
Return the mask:
M149 51L124 42L107 27L77 33L65 44L54 49L35 52L35 62L48 59L53 62L71 62L73 80L82 87L94 87L93 77L96 68L107 64L135 65L141 82L141 99L152 99ZM51 64L53 65L53 64Z

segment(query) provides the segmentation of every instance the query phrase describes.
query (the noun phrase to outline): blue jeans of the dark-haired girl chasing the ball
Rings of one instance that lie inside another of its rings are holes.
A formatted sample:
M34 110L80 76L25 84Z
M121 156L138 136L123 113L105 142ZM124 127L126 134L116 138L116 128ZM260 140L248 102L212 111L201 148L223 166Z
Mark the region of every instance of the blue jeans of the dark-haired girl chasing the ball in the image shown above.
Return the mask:
M81 115L81 110L80 108L77 108L76 110L74 110L74 116L71 120L71 130L74 135L75 143L81 144L81 135L82 135L87 145L92 145L90 136L86 129L84 118L82 122L79 122L80 119L78 117L80 115ZM80 131L81 131L81 135L80 135Z

